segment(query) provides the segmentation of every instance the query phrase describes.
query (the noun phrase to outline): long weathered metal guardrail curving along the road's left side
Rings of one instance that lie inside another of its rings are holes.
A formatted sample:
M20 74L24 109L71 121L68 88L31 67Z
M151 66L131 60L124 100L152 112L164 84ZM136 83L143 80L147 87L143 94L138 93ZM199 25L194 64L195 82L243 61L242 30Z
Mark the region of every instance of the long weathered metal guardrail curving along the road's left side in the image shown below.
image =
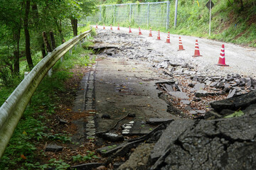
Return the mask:
M0 108L0 158L4 154L4 150L8 145L11 135L14 133L16 125L21 115L26 109L33 93L46 76L48 71L54 66L58 60L65 55L68 50L72 49L78 42L84 40L87 35L90 36L92 29L81 33L75 38L68 40L50 52L43 58L31 72L21 81L12 94L7 98Z

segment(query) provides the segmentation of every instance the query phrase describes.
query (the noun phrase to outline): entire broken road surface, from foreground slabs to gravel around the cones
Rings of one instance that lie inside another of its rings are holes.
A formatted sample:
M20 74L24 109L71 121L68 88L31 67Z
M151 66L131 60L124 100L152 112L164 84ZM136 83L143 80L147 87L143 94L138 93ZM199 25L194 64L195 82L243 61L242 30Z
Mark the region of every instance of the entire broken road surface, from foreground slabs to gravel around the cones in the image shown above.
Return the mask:
M192 57L196 38L182 36L177 51L178 35L168 44L120 29L97 30L97 64L82 81L91 115L80 131L105 166L255 169L255 49L227 44L230 67L218 67L221 42L198 38L203 57Z

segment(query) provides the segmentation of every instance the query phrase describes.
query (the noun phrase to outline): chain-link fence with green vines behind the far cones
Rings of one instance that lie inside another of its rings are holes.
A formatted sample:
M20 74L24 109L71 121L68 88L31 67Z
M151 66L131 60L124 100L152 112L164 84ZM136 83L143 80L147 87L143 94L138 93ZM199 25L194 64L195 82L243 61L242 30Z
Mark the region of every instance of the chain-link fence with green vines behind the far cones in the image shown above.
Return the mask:
M87 21L106 25L129 23L132 26L169 28L169 1L106 5L98 8L94 16L87 16Z

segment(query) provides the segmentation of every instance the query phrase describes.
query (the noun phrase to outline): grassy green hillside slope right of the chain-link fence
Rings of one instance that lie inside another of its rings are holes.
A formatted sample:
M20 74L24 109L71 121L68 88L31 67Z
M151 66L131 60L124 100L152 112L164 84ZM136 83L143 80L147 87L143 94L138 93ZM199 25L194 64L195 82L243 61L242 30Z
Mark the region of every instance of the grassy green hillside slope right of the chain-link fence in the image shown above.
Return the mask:
M174 29L175 1L171 1L171 33L193 35L256 47L256 2L243 0L243 8L234 0L213 0L211 36L208 0L178 1L177 26ZM199 6L198 6L199 4Z

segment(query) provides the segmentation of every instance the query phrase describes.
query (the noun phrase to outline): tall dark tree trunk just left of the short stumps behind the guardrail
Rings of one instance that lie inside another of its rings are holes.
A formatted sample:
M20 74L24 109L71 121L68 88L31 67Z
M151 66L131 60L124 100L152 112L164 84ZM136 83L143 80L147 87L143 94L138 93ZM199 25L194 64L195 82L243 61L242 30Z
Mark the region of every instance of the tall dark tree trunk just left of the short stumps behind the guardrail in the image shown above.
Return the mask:
M30 0L26 0L25 6L25 16L24 16L24 33L26 39L26 60L28 62L29 69L33 69L33 61L31 57L31 50L30 50L30 35L28 30L28 14L30 10Z

